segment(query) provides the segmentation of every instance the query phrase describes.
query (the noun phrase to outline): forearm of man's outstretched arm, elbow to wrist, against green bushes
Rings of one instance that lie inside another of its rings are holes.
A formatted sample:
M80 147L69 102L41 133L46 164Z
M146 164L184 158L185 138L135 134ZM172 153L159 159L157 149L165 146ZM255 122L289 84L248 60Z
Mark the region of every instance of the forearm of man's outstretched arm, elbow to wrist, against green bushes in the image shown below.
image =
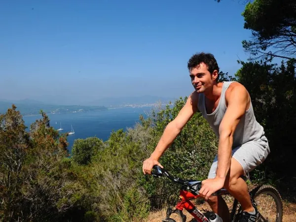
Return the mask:
M181 131L181 129L178 129L178 127L176 127L176 124L173 121L170 122L166 126L166 128L165 128L165 130L164 130L164 132L163 132L163 134L162 134L162 136L161 136L155 150L150 155L150 158L156 159L158 161L159 158L161 157L161 155L164 153L164 151L176 139L176 137L178 136L180 131Z

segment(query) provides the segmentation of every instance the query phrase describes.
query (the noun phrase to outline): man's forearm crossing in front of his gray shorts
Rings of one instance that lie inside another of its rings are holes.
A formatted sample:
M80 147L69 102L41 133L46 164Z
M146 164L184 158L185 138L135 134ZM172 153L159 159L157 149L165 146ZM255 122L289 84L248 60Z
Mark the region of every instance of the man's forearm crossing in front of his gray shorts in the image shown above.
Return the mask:
M217 178L225 180L230 169L232 143L233 137L231 134L224 134L220 136L218 146Z

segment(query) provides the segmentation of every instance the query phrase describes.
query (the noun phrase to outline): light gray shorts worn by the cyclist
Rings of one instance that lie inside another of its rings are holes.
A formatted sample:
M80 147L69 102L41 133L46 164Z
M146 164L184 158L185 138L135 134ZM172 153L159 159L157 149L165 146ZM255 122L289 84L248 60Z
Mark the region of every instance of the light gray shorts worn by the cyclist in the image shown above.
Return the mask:
M248 173L259 166L270 153L268 141L265 136L259 140L249 141L232 149L232 157L236 159L244 169L242 178L247 179ZM216 169L218 165L217 155L211 166L208 178L216 177Z

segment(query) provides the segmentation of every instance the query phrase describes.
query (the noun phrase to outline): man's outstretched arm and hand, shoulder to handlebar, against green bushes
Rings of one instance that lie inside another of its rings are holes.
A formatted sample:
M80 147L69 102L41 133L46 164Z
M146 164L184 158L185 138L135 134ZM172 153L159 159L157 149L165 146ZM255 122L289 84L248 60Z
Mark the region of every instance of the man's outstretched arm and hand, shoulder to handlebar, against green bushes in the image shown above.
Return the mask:
M178 134L184 128L192 115L197 111L198 94L193 92L187 99L185 106L178 113L177 117L171 121L165 128L156 148L150 157L143 163L143 173L150 174L151 169L155 163L158 163L159 158L164 151L176 139ZM159 163L158 163L159 164Z

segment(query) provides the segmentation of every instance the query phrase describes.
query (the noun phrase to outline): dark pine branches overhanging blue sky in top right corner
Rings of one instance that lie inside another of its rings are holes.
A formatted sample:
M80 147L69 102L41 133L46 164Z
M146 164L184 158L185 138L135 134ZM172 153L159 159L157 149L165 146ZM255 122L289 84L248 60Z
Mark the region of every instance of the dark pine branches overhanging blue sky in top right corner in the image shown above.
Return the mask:
M252 31L252 40L243 47L256 59L296 56L296 1L254 0L242 13L244 28Z

